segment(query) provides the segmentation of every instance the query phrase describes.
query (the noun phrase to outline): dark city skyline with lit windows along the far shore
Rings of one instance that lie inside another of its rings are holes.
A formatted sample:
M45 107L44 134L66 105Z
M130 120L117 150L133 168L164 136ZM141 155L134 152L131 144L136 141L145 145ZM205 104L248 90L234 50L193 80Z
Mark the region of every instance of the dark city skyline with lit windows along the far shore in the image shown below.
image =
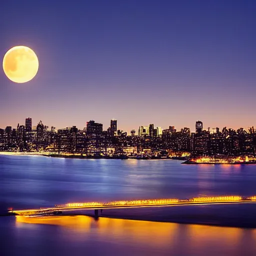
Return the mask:
M117 120L103 130L102 123L90 120L79 130L76 126L56 129L39 121L32 126L26 118L25 125L0 129L0 152L34 153L65 158L118 158L118 159L179 159L197 164L247 164L256 163L256 130L222 130L218 127L203 129L196 121L195 132L184 127L177 131L139 126L131 134L117 129Z

